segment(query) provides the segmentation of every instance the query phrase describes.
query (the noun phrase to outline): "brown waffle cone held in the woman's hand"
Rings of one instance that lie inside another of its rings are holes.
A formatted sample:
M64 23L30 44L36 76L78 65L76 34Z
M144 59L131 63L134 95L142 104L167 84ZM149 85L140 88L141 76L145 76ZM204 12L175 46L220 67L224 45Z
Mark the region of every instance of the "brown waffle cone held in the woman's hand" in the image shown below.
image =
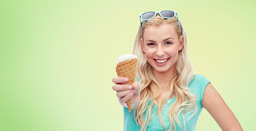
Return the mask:
M116 73L118 76L126 77L129 81L126 83L127 85L132 85L135 81L136 77L136 66L137 66L138 59L129 59L123 62L120 62L116 66ZM132 98L129 99L127 102L128 110L130 112L132 107Z

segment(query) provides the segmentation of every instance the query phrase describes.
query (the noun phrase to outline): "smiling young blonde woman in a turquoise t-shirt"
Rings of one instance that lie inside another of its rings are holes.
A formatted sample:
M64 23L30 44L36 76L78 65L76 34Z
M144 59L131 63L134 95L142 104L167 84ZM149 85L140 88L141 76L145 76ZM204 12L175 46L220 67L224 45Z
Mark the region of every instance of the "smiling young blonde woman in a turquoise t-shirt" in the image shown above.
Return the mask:
M187 37L177 13L151 11L142 20L134 44L136 81L113 78L124 111L124 130L195 130L203 108L222 130L242 130L233 112L203 75L194 75ZM132 111L126 102L132 98ZM207 129L206 129L207 130Z

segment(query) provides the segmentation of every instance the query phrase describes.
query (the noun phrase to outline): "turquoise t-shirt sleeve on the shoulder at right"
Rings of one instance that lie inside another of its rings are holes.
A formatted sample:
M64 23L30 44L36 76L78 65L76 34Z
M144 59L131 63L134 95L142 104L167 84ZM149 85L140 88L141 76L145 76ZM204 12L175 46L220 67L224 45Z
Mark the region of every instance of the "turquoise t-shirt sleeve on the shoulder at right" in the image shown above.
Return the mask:
M205 76L203 75L196 75L196 78L197 78L197 83L199 84L200 86L200 104L201 106L203 107L202 105L202 100L203 100L203 96L204 96L204 92L205 92L205 87L210 83L210 81L205 78Z

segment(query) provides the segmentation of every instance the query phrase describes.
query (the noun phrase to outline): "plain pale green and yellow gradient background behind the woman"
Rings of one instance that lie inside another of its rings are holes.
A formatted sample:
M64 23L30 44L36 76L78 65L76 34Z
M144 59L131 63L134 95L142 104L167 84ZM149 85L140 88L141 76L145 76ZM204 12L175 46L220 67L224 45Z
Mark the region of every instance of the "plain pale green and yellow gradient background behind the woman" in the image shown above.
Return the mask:
M175 10L194 73L255 129L254 1L1 1L0 130L122 130L111 79L139 14ZM217 107L216 107L217 108ZM203 110L196 130L221 130Z

